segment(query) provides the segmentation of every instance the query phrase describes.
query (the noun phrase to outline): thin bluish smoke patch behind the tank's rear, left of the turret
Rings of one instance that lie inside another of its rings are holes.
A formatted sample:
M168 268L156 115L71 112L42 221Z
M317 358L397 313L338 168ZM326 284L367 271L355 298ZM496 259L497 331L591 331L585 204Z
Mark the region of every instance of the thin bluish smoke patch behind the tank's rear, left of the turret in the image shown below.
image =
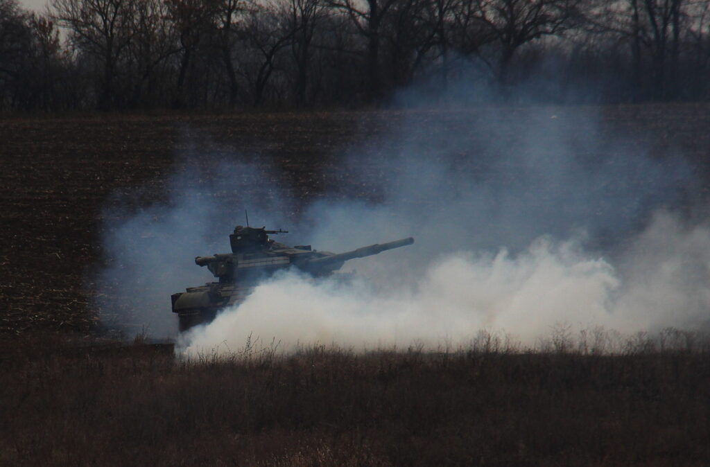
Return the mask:
M209 156L203 154L202 160ZM235 212L234 197L261 211L257 221L276 222L270 213L290 211L283 201L288 196L276 184L263 183L271 180L268 168L214 159L213 167L180 165L166 188L165 202L139 204L131 210L136 203L129 199L124 200L126 206L107 208L103 234L107 264L94 279L98 291L94 304L105 329L126 336L175 336L170 295L211 278L194 260L228 251L234 219L244 219L244 211Z

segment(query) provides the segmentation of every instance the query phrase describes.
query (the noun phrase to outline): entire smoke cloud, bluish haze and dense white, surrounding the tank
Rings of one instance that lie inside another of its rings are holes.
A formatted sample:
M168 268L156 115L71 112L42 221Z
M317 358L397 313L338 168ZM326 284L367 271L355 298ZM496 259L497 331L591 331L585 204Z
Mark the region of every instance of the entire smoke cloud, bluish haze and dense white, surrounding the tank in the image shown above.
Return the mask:
M679 212L694 183L687 165L651 158L583 110L507 112L415 112L395 134L350 148L342 180L374 187L378 202L334 194L293 216L290 194L263 183L263 167L226 163L200 177L211 182L176 177L168 203L109 229L109 256L122 260L103 280L139 291L133 308L148 310L136 321L150 334L174 334L170 294L210 280L192 258L229 251L246 207L252 224L288 227L278 241L289 244L416 243L346 263L361 276L351 285L276 275L187 334L187 353L248 339L358 349L465 344L481 329L534 344L559 323L706 326L710 225Z

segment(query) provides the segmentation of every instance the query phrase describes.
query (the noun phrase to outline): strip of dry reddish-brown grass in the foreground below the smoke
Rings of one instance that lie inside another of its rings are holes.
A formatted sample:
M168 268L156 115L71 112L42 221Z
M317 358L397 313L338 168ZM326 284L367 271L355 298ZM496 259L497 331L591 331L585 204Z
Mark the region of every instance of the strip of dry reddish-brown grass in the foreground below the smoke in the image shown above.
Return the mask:
M0 366L0 464L706 465L710 351L682 341L198 361L28 343Z

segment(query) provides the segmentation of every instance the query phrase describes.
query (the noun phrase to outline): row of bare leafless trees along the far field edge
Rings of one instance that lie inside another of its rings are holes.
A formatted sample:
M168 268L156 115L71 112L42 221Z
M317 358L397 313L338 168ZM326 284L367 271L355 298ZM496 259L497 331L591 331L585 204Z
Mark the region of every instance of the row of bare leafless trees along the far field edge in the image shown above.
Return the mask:
M710 0L0 0L0 111L706 99L709 71Z

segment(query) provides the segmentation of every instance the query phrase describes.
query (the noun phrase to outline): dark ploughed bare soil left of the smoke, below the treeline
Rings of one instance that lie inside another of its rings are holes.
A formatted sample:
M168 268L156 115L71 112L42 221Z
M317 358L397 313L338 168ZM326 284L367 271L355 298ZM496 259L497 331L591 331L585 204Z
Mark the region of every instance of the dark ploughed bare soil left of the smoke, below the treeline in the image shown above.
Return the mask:
M193 149L195 139L240 157L266 154L283 167L283 182L307 197L327 170L326 152L351 138L356 119L259 114L0 120L0 333L92 329L92 291L85 279L101 259L100 229L111 198L164 197L175 160Z

